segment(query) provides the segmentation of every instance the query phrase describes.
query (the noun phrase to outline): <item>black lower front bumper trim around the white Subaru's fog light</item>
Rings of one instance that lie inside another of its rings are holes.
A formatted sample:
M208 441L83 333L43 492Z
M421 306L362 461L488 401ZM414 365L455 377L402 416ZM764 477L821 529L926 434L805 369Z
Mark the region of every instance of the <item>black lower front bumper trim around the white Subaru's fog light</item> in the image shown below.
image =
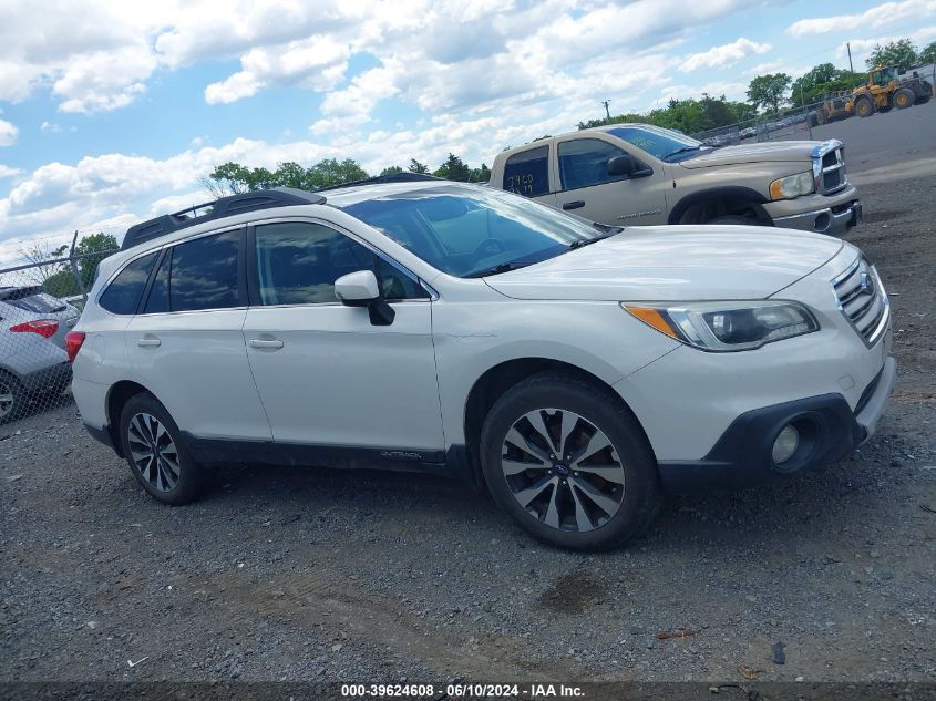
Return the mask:
M861 398L856 412L842 394L822 394L749 411L736 419L706 457L659 463L668 492L700 487L743 487L837 462L874 434L896 378L887 358ZM801 441L781 465L771 457L773 442L789 424Z

